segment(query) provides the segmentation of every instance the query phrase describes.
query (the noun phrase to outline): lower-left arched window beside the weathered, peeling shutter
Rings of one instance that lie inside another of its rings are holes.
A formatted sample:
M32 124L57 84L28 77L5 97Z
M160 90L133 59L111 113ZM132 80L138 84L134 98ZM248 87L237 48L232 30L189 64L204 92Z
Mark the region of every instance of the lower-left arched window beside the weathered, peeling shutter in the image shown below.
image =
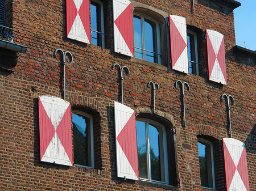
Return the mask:
M74 164L94 168L93 117L72 111Z

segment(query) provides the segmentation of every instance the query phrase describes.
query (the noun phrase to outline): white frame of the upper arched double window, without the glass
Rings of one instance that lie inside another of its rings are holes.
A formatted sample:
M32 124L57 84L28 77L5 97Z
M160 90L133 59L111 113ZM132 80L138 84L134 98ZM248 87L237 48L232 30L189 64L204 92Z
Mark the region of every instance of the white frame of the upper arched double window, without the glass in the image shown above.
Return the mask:
M139 16L141 17L141 30L142 30L142 49L144 49L144 47L146 46L145 45L145 42L144 42L144 39L145 39L145 27L144 27L144 20L147 19L147 20L150 20L151 22L154 22L155 23L155 26L156 26L156 49L157 49L157 58L158 58L158 64L159 65L162 65L162 61L161 61L161 47L160 47L160 27L159 27L159 23L154 19L154 18L151 18L150 16L147 16L147 15L143 15L143 14L140 14L139 12L134 12L133 13L133 17L134 16ZM134 26L134 25L133 25ZM154 36L153 36L154 37ZM146 49L145 49L146 50ZM145 54L145 50L142 50L142 55L143 55L143 59L142 60L146 60L146 54ZM135 46L134 46L134 51L135 51ZM135 53L134 53L135 54ZM137 57L136 57L137 58ZM138 58L138 59L141 59L141 58ZM154 62L156 63L156 62Z

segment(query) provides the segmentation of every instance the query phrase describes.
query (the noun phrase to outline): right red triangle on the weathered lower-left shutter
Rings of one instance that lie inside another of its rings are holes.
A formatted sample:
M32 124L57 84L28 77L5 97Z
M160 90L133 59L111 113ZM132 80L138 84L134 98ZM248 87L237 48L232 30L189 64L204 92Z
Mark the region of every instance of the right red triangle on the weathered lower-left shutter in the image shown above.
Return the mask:
M60 121L59 126L57 127L56 133L60 138L60 141L67 152L68 158L73 163L72 155L72 135L71 135L71 107L70 105L67 108L63 118Z

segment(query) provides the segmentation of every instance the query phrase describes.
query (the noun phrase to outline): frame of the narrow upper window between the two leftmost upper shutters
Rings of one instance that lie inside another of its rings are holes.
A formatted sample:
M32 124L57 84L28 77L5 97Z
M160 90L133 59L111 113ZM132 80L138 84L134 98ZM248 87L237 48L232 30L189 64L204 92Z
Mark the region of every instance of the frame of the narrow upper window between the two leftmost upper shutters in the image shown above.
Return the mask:
M90 7L93 3L100 5L99 23L100 23L101 31L92 30L92 14L90 12L90 35L91 35L91 38L92 38L92 32L96 32L97 34L101 35L101 42L100 42L101 45L96 45L96 46L100 46L102 48L105 48L105 36L106 36L106 34L105 34L105 31L104 31L104 3L102 1L99 1L99 0L93 0L93 1L90 1ZM90 9L90 11L91 11L91 9ZM97 18L97 20L98 20L98 18ZM92 44L92 39L91 39L91 44Z

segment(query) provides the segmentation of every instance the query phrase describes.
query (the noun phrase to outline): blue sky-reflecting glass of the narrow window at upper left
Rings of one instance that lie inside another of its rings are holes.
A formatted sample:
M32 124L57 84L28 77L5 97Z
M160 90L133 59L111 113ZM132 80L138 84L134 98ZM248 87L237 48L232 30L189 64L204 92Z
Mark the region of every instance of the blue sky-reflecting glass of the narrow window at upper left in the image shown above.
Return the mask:
M97 31L97 9L99 7L93 4L90 4L90 24L93 31ZM97 33L92 31L92 44L98 45Z

